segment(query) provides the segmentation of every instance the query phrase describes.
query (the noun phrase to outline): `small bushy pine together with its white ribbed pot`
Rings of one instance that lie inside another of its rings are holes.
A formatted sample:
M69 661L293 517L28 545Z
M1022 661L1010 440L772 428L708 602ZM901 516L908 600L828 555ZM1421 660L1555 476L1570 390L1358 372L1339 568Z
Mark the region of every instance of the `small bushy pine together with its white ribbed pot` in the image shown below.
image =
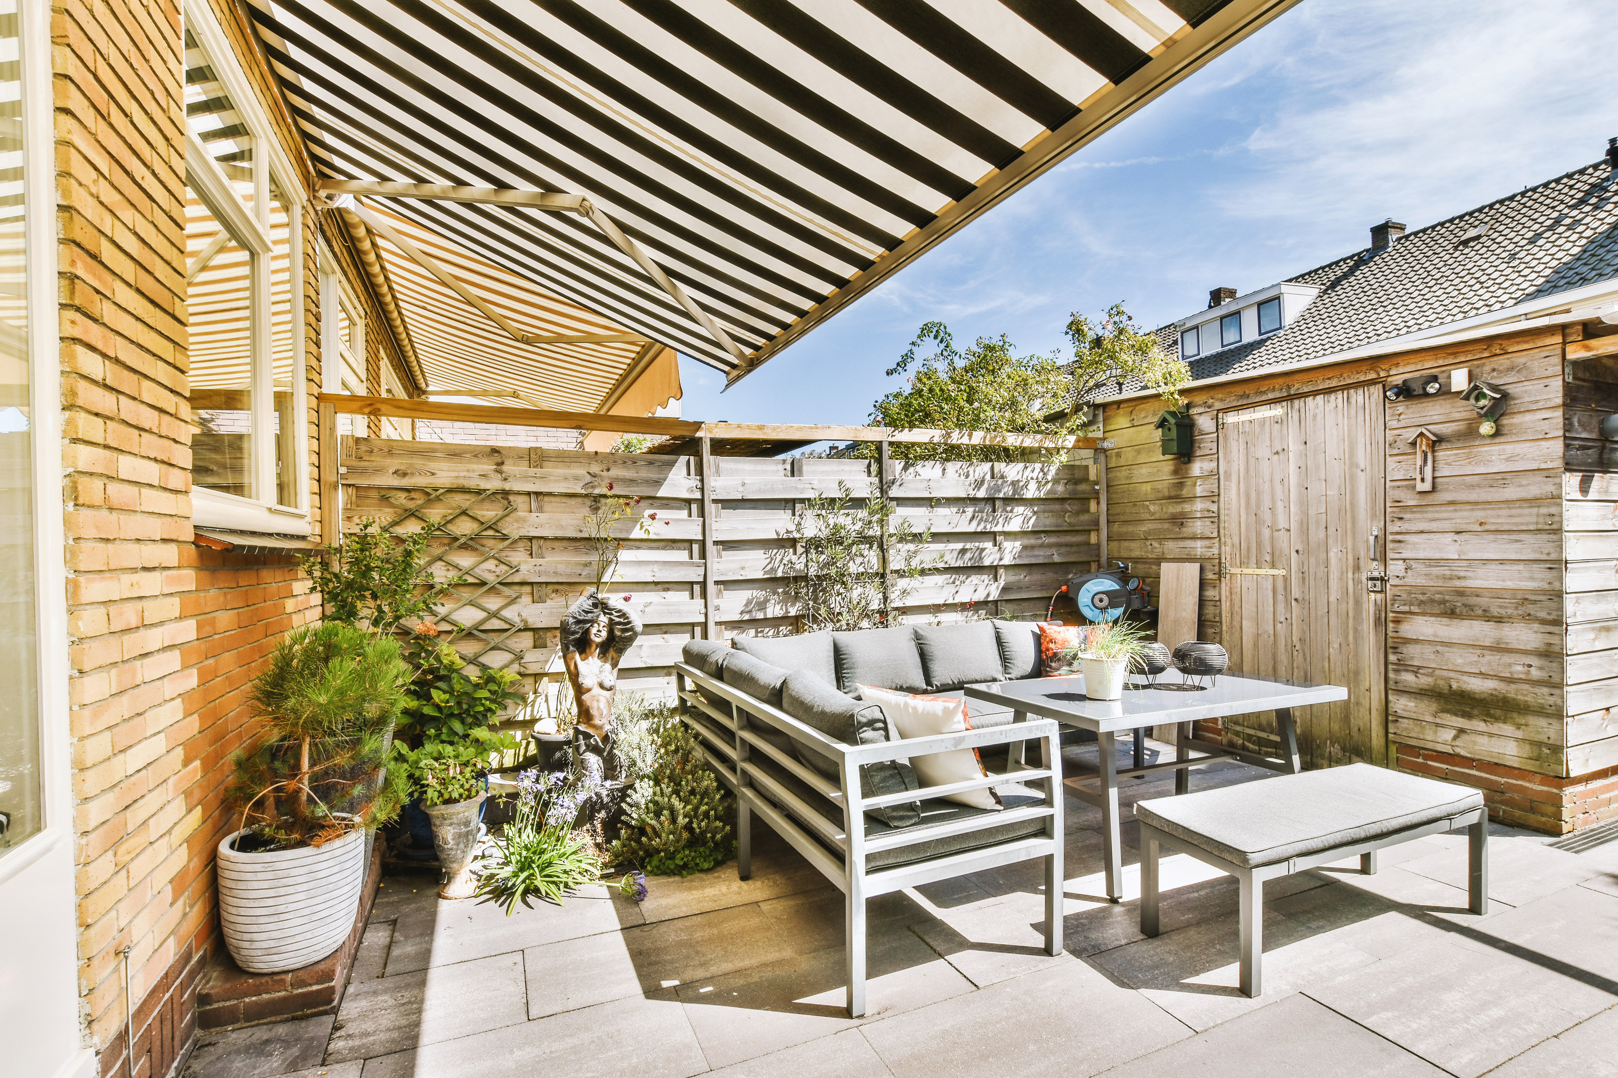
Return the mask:
M387 760L408 679L398 643L328 622L290 632L254 682L264 729L235 756L241 821L217 860L225 945L248 973L303 968L348 937L366 831L406 789Z

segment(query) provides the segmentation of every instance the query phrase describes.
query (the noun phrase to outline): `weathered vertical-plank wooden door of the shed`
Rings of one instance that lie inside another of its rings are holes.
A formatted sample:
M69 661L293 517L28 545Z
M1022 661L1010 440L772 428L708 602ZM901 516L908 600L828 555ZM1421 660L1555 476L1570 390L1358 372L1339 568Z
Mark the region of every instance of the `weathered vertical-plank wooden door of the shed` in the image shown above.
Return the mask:
M1387 585L1367 587L1387 569L1382 409L1370 385L1220 412L1230 669L1348 687L1294 716L1307 768L1387 763ZM1228 740L1273 752L1273 716L1226 719Z

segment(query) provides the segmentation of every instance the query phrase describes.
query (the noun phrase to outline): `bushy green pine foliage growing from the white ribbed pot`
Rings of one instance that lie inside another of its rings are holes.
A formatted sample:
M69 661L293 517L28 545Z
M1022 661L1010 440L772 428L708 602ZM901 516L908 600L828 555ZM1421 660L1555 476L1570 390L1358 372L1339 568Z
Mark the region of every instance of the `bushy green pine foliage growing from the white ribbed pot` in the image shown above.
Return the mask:
M291 849L393 819L406 785L387 745L408 679L393 640L337 622L286 634L252 685L264 729L233 756L243 827Z

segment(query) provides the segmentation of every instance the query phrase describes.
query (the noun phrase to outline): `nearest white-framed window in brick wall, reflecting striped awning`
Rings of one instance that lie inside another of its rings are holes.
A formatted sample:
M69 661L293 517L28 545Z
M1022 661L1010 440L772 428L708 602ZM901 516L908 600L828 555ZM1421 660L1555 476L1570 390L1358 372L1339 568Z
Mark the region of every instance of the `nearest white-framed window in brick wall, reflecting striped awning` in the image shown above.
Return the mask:
M193 482L204 491L304 504L301 210L269 141L238 110L186 31L186 310ZM275 530L286 530L277 527Z

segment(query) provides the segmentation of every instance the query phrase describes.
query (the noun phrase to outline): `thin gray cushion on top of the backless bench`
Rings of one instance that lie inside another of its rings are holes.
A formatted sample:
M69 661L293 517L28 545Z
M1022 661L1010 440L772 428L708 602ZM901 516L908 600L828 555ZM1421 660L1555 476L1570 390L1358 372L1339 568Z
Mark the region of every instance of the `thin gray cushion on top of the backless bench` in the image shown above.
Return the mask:
M1136 819L1244 868L1482 808L1464 785L1369 763L1137 802Z

